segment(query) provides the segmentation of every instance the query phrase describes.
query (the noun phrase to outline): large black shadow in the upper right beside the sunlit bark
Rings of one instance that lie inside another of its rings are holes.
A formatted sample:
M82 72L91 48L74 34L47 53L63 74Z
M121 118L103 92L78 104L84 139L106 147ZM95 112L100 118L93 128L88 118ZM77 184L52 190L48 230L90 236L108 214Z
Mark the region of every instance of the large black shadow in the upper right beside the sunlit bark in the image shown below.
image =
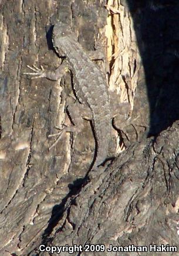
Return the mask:
M179 2L127 0L146 75L150 130L157 135L179 119ZM136 11L138 10L138 11Z

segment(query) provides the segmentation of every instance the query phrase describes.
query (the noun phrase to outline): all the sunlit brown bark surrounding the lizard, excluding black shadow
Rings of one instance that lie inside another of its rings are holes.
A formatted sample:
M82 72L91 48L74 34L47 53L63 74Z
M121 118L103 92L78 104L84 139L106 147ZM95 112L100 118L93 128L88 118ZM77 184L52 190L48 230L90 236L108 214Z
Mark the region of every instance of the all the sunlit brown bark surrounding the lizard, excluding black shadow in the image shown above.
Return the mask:
M0 254L38 255L39 244L178 245L178 4L0 2ZM54 127L70 124L61 97L72 100L70 75L60 83L23 75L26 65L60 64L50 41L59 20L72 22L86 51L103 50L108 62L97 64L109 88L131 104L130 124L119 124L128 148L93 179L89 122L48 150Z

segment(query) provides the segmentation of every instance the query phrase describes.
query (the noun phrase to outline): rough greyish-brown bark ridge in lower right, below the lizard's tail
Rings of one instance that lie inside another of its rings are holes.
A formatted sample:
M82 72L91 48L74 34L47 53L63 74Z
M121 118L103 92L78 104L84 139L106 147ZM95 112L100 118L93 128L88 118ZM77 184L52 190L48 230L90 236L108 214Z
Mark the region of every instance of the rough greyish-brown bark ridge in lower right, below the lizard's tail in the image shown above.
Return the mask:
M120 154L112 167L69 197L62 210L63 217L59 218L49 241L44 237L42 244L104 244L104 255L116 255L116 252L107 252L110 244L148 248L150 244L177 246L178 128L179 122L175 122L157 139L132 145ZM82 255L89 254L83 252ZM120 252L120 255L140 255L140 252Z

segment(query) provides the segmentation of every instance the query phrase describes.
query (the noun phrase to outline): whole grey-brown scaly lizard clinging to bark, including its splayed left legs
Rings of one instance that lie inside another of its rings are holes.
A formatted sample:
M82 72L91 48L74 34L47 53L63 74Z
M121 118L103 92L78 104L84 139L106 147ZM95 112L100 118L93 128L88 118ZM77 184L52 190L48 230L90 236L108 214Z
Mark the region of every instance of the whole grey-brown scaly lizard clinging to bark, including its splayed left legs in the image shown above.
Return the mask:
M112 129L112 115L110 112L110 98L106 78L100 68L89 58L77 41L76 35L68 25L59 22L53 27L53 47L59 57L65 57L65 63L55 71L45 71L33 66L28 68L33 72L27 75L36 75L32 78L45 77L50 80L62 78L67 71L73 77L73 92L77 98L75 107L67 107L73 124L63 128L63 132L77 132L83 126L80 109L85 113L83 118L92 120L94 138L96 139L96 158L93 160L93 169L96 169L109 158L109 144ZM74 111L75 109L75 111ZM72 114L73 112L73 114ZM87 114L87 118L86 118Z

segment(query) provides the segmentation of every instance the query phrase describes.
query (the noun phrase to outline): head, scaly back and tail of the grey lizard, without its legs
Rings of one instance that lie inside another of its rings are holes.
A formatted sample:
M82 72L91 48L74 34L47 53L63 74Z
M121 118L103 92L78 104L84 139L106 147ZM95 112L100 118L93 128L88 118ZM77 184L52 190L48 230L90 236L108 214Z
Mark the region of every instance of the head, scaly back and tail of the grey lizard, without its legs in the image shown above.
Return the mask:
M60 56L65 56L73 74L73 89L80 103L87 105L93 115L93 128L97 141L97 155L94 167L108 157L110 129L109 92L99 67L90 60L76 35L69 26L58 23L53 28L53 46Z

